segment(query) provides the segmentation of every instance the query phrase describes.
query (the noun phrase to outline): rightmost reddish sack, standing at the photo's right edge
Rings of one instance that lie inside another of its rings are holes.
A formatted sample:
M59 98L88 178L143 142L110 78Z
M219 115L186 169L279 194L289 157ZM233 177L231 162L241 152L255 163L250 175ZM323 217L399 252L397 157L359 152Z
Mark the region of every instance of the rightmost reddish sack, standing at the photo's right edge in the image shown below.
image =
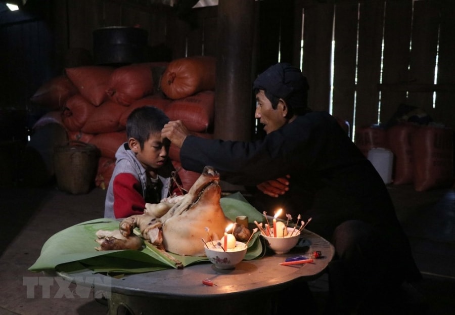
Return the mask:
M421 126L412 138L414 189L448 187L453 182L453 129Z

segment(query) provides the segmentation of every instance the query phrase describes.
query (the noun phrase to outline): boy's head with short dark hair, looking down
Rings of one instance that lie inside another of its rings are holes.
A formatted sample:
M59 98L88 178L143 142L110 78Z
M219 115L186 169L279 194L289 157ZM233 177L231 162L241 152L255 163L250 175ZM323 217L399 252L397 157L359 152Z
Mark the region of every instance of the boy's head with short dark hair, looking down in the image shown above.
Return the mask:
M167 159L169 143L161 141L161 129L169 118L156 107L134 109L126 120L128 146L146 169L157 169Z

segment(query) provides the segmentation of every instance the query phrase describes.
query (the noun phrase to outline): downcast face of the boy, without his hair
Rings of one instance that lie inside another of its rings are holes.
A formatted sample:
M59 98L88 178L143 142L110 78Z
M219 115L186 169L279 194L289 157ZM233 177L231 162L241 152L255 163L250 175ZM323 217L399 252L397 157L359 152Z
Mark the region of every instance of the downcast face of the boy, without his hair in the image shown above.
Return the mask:
M139 142L136 141L135 143L136 145L133 145L133 148L131 148L130 142L130 148L136 153L139 162L141 162L146 169L158 169L164 165L170 144L161 142L160 131L150 134L149 139L144 143L143 149L141 149Z

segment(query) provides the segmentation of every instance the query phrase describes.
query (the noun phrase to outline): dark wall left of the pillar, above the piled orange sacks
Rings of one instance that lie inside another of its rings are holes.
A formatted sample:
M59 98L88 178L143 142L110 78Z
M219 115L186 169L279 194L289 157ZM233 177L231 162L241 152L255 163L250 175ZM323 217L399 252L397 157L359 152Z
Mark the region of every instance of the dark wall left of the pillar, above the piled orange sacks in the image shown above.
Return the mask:
M39 6L45 14L17 11L0 16L0 75L8 78L0 85L0 109L34 111L30 97L42 83L63 73L74 51L93 56L93 31L102 27L140 26L149 32L149 46L171 49L171 59L216 55L217 7L192 10L197 27L190 27L173 8L149 1L40 0Z

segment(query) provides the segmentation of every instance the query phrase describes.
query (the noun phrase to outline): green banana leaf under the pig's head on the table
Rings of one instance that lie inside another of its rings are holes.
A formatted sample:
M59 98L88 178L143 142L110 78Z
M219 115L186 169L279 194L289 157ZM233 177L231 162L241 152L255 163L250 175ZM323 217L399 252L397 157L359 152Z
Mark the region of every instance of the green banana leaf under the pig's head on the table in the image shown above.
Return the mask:
M233 221L239 215L248 216L250 223L264 218L240 193L221 198L220 204L226 217ZM29 267L29 271L72 272L88 268L98 273L130 274L177 267L172 259L148 242L145 242L142 250L97 251L95 233L98 230L114 231L118 229L118 224L118 220L101 218L76 224L54 234L44 243L38 259ZM264 252L265 246L257 232L248 243L244 259L258 258ZM207 257L168 254L183 266L208 261Z

